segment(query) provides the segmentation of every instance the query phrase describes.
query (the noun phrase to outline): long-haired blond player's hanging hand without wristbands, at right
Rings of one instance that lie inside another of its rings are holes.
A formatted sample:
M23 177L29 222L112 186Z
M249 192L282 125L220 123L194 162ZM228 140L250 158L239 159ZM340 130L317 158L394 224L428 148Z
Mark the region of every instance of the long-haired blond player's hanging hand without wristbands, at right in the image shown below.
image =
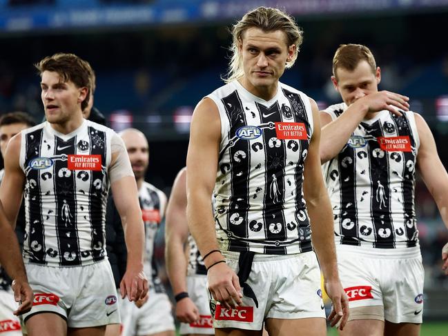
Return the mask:
M333 302L333 308L328 317L331 326L340 322L340 330L344 329L349 319L349 298L342 288L340 281L325 281L325 291Z

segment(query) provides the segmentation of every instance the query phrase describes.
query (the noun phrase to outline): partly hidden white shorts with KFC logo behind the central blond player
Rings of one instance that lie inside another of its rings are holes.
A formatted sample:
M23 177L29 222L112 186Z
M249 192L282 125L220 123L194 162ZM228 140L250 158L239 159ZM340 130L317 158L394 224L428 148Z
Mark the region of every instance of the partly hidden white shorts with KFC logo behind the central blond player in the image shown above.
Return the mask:
M206 275L191 275L186 277L186 285L188 288L188 295L199 310L199 322L196 323L181 323L180 335L186 334L202 334L215 335L213 329L213 321L211 319L210 306L208 305L207 295L207 276Z

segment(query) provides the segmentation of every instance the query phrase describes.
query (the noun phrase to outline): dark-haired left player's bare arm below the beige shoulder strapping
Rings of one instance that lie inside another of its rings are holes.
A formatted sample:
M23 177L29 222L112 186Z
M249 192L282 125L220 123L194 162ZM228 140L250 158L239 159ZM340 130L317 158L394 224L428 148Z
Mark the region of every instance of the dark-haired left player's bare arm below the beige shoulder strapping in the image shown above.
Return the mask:
M113 161L114 161L113 155ZM110 185L113 192L115 206L121 217L128 260L126 273L120 283L121 297L128 296L130 301L137 301L146 297L148 293L148 279L143 272L144 226L142 210L139 206L137 184L135 177L125 176Z

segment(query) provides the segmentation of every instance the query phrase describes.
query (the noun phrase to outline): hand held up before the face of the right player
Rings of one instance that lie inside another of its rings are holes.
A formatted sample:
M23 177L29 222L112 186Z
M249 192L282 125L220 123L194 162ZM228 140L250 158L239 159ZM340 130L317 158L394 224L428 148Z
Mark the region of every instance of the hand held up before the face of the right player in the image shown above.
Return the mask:
M365 104L368 112L388 110L400 117L399 110L409 111L409 98L395 92L380 91L358 99L355 103Z

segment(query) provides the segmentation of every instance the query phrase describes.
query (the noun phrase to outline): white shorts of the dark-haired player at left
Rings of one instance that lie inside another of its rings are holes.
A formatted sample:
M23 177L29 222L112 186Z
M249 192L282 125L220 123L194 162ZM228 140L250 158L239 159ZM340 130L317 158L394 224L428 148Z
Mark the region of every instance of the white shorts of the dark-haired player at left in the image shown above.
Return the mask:
M119 323L117 289L108 260L88 266L49 267L25 264L35 300L32 315L55 313L70 328Z

